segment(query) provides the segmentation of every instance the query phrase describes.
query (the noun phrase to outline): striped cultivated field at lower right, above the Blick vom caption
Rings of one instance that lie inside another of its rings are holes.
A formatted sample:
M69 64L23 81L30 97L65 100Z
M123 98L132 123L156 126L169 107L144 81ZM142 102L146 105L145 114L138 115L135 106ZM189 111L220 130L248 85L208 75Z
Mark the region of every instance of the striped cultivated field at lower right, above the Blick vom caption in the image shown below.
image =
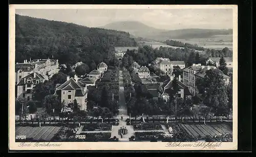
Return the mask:
M197 138L205 138L206 136L219 136L222 133L232 134L232 127L226 123L212 124L179 124L186 132Z

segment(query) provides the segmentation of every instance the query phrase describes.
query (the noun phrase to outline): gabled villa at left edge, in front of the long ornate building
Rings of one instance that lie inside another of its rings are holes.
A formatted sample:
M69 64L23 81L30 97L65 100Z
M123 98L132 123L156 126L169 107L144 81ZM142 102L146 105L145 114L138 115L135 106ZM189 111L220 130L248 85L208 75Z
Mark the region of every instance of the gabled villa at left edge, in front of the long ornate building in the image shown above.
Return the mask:
M42 74L33 72L23 78L19 79L17 84L16 98L30 101L33 99L33 87L36 84L45 82L45 78Z

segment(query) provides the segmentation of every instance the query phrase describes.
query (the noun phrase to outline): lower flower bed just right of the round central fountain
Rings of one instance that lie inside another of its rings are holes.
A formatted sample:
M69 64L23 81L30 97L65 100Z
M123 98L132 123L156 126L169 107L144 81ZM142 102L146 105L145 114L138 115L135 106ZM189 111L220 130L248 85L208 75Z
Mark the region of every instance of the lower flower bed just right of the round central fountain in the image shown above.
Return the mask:
M164 131L135 132L136 140L152 140L161 137Z

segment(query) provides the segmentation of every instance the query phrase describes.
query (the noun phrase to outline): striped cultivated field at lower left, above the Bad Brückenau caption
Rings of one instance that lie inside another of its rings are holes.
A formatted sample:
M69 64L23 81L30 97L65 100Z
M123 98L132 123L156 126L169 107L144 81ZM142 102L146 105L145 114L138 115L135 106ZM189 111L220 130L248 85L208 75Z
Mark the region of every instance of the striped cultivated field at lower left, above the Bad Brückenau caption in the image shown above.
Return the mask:
M41 127L23 127L15 128L15 135L26 136L27 139L50 141L55 134L60 130L58 126L41 126Z

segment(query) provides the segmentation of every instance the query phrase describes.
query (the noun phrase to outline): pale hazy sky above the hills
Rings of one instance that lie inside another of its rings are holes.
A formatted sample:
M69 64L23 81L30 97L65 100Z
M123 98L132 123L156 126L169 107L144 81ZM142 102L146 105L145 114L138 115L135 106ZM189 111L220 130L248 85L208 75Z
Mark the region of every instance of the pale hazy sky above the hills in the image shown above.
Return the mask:
M165 30L232 28L232 9L16 9L16 14L87 27L132 20Z

